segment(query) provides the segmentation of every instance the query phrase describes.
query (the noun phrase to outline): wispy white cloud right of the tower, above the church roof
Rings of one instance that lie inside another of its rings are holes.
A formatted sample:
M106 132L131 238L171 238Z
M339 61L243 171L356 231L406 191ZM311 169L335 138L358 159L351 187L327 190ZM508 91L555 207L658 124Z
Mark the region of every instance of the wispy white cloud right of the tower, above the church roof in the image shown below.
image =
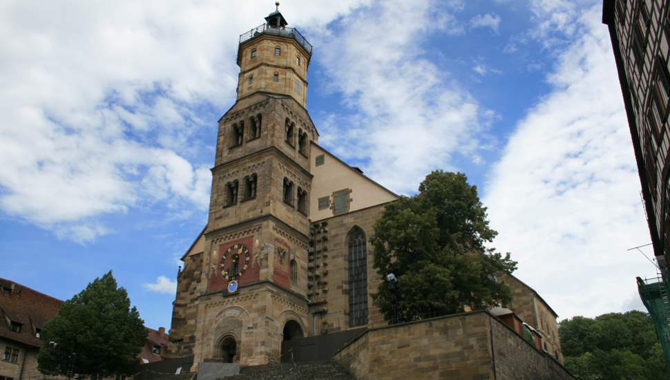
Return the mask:
M318 117L320 143L350 161L370 159L366 173L403 193L416 191L430 170L450 169L455 151L476 159L475 136L490 113L420 48L436 12L461 7L381 1L348 17L343 34L325 41L329 48L317 59L328 63L332 86L353 116ZM399 19L403 28L396 28Z

